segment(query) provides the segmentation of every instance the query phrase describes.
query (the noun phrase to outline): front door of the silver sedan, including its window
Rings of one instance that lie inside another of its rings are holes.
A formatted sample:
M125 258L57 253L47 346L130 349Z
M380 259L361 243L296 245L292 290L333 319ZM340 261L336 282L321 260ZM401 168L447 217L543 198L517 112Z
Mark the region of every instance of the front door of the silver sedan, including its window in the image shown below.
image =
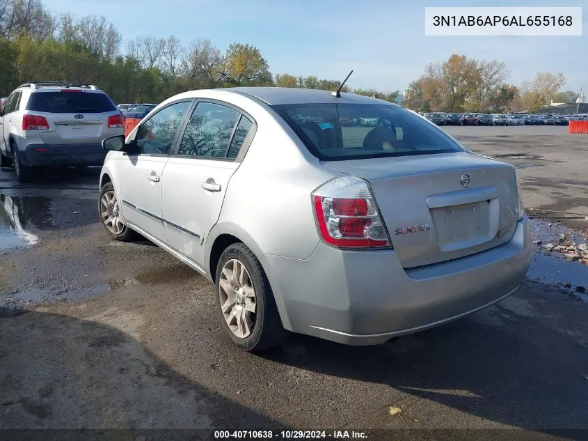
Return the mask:
M154 238L166 241L161 217L161 183L164 167L192 101L172 103L141 121L134 147L122 160L120 199L125 221Z

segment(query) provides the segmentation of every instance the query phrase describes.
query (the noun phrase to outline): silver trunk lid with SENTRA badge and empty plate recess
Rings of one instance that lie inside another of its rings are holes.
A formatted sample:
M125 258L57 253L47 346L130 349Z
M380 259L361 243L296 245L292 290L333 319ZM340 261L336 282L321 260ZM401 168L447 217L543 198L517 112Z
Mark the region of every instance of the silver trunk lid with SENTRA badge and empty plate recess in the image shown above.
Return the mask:
M472 153L324 162L364 178L404 268L468 256L516 229L515 170Z

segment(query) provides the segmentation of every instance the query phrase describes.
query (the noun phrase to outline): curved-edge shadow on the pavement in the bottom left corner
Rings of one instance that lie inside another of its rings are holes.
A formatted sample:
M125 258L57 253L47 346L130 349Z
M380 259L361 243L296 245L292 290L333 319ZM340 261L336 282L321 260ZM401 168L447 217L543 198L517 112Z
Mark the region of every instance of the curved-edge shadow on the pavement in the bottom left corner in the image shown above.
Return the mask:
M114 438L86 433L117 440L168 429L145 439L199 440L212 439L214 429L284 427L162 362L137 339L140 316L106 311L90 321L6 309L0 317L2 429L125 429ZM43 438L67 438L56 432ZM68 439L91 438L78 435Z

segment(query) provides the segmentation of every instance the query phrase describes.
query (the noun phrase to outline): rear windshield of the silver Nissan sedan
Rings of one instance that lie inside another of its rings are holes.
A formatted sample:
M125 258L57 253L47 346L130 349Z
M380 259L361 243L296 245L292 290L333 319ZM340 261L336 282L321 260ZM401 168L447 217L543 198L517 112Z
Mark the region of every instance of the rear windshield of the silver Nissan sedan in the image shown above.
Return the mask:
M321 160L463 151L424 118L394 105L277 105L273 109Z

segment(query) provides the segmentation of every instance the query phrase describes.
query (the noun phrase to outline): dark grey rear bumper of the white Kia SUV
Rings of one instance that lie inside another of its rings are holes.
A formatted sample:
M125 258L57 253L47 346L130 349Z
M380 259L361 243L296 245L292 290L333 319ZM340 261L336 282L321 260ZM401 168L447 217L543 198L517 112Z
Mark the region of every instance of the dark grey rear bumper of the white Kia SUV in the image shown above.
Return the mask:
M24 165L102 165L108 153L101 144L29 144L19 150Z

